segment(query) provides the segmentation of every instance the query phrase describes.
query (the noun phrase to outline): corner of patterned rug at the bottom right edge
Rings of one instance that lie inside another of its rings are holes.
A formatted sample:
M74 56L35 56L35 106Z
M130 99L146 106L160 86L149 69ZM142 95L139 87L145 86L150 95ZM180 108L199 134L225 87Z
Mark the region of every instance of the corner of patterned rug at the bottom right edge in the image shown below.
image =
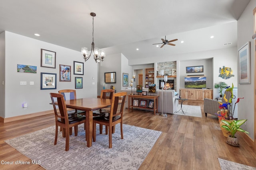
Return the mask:
M218 161L220 163L221 170L256 170L256 168L254 168L252 166L238 164L236 162L231 162L231 161L224 160L221 158L218 158Z

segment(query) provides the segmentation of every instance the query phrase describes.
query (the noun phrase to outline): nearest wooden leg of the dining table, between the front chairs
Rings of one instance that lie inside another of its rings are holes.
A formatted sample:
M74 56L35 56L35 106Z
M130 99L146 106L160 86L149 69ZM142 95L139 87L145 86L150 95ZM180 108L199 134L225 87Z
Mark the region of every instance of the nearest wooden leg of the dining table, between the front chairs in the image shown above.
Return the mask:
M87 147L92 146L92 111L86 111L86 127L85 127L85 135L87 140Z

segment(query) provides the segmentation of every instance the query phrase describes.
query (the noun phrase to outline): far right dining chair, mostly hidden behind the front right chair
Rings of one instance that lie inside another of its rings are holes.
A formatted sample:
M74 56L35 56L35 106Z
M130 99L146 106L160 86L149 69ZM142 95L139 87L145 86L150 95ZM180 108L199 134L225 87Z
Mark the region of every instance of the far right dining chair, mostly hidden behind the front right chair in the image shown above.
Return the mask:
M109 96L107 96L108 93L109 93ZM103 89L100 92L100 98L101 99L107 99L107 98L112 99L114 93L115 93L115 90ZM110 112L110 109L107 109L107 108L100 109L100 115L101 116L104 116L106 113L109 113L109 112ZM96 114L97 114L97 112L96 112ZM100 134L102 134L102 129L103 129L103 126L100 125ZM105 129L106 129L106 135L108 135L108 127L106 126Z

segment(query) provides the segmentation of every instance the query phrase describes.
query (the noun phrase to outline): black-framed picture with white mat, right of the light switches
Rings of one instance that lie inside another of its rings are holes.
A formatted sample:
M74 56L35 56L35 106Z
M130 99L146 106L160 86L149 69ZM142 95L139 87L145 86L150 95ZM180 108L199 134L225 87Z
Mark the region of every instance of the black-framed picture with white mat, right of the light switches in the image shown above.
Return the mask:
M56 89L57 74L41 72L41 90Z

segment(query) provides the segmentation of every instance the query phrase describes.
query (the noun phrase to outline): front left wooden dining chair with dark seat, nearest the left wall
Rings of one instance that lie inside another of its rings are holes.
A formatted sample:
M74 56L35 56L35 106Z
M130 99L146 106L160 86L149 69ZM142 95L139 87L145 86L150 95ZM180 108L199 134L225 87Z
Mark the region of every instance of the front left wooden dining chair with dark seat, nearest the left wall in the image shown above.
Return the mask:
M52 106L54 108L54 114L55 114L55 139L54 139L54 145L57 144L57 137L58 137L58 127L62 128L62 136L66 138L66 146L65 150L69 150L69 134L70 134L70 128L74 127L75 129L75 136L78 134L78 125L86 123L86 117L84 115L80 115L78 113L68 115L66 103L64 100L64 96L62 94L58 93L50 93L51 99L52 99ZM56 99L58 103L58 110L56 109L56 103L54 101Z

